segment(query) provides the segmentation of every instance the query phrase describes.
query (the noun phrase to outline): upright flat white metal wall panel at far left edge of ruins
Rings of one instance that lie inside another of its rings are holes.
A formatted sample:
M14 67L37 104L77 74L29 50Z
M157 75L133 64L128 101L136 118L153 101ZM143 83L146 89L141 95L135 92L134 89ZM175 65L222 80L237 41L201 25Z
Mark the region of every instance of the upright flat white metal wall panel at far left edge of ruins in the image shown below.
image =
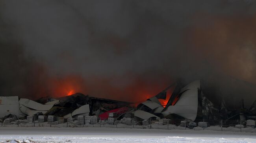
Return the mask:
M0 118L8 114L19 116L19 96L0 96Z

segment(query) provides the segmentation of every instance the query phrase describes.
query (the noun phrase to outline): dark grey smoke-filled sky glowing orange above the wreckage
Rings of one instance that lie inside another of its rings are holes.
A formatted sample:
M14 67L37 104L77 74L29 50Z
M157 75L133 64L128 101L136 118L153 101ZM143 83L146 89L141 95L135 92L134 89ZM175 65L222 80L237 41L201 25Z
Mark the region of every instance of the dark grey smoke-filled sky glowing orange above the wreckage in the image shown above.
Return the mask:
M134 101L215 74L254 86L255 63L253 0L0 1L5 96Z

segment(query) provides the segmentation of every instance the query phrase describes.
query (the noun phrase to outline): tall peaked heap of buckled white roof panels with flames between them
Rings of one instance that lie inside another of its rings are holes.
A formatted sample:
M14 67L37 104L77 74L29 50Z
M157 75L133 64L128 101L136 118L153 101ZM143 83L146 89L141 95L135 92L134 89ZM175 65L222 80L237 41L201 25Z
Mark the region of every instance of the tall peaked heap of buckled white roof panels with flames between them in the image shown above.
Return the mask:
M157 98L159 95L158 94L139 104L134 116L141 119L148 119L156 115L159 117L159 114L162 114L163 117L170 114L176 114L191 121L195 121L198 110L200 80L193 81L192 83L189 83L182 88L181 87L182 86L180 85L176 86L176 89L174 90L165 108L160 104ZM170 87L167 89L169 88Z

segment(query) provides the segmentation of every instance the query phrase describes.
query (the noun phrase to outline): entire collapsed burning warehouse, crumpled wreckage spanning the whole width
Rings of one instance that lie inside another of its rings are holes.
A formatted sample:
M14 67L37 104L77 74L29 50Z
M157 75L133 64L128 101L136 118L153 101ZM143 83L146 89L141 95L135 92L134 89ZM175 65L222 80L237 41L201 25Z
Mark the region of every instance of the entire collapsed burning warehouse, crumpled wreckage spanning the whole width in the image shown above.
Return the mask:
M171 97L166 99L167 90L173 86L175 88ZM162 105L160 100L168 100L168 102ZM239 122L246 125L249 120L254 121L252 126L255 126L256 101L250 109L246 109L241 100L240 110L229 110L224 99L221 99L219 105L215 105L206 98L202 82L196 80L186 85L176 82L138 105L95 98L81 93L57 99L46 97L36 101L19 99L18 96L3 96L0 97L0 118L1 122L13 124L17 124L20 120L23 122L37 120L39 123L74 122L80 125L102 122L112 125L117 123L148 125L152 121L182 125L185 121L185 126L187 123L202 120L208 125L215 125L220 120L226 125L236 125Z

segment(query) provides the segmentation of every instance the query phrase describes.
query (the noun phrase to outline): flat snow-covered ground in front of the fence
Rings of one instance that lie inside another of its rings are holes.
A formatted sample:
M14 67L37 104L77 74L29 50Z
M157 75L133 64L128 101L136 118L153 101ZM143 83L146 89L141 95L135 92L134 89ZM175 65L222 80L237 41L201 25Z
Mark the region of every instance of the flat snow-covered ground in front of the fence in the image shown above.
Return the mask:
M256 143L256 133L95 127L0 127L0 143L23 140L27 143Z

